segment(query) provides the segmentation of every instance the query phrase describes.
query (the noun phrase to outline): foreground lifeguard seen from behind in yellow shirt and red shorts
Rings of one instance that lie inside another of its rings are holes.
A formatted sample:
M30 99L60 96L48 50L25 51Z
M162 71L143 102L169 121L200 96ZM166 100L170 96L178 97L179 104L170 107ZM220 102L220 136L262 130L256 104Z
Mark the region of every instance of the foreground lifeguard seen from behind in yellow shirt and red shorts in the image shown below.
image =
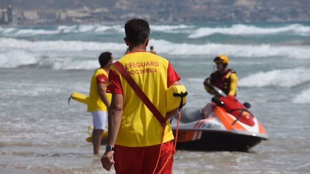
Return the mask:
M147 21L131 19L124 28L124 40L130 52L111 65L109 71L107 93L112 94L109 135L101 163L106 170L114 165L117 174L171 174L174 150L171 125L166 122L162 127L117 69L117 64L124 67L165 119L175 114L175 111L167 112L166 90L180 85L180 77L167 59L146 51L150 34Z

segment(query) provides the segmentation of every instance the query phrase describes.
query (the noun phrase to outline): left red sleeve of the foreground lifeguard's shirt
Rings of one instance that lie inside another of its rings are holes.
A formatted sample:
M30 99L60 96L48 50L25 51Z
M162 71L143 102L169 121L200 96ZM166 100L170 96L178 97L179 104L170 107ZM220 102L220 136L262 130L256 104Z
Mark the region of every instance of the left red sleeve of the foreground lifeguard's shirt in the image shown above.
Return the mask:
M107 93L123 94L121 80L117 73L110 69L108 76Z

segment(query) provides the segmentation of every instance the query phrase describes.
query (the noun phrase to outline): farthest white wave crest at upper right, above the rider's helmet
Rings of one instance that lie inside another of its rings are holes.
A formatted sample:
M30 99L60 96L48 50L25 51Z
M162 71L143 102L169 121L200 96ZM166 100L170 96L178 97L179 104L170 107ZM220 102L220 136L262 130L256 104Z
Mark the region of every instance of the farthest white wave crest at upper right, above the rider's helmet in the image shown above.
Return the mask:
M195 30L193 34L188 35L188 38L206 37L215 33L227 35L270 35L289 33L293 35L310 36L310 26L290 24L284 27L262 28L255 25L234 24L231 27L202 27Z

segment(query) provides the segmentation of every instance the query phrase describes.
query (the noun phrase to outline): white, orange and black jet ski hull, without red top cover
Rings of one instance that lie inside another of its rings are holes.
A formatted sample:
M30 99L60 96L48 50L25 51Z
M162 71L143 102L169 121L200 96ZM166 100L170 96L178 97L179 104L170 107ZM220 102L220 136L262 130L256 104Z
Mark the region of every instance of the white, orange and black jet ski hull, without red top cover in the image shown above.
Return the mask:
M268 136L256 117L246 124L223 107L207 105L202 110L182 113L176 148L199 151L248 151ZM171 120L174 136L176 116Z

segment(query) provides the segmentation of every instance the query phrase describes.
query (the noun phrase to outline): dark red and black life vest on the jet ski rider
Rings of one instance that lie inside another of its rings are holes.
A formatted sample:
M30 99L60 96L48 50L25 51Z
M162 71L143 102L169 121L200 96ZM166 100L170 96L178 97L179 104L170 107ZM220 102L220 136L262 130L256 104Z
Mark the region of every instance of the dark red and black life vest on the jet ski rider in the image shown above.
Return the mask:
M219 71L215 71L211 74L211 83L217 88L221 89L225 94L228 95L230 89L230 75L232 73L237 74L233 69L228 69L225 74L221 74ZM235 94L235 96L237 93Z

